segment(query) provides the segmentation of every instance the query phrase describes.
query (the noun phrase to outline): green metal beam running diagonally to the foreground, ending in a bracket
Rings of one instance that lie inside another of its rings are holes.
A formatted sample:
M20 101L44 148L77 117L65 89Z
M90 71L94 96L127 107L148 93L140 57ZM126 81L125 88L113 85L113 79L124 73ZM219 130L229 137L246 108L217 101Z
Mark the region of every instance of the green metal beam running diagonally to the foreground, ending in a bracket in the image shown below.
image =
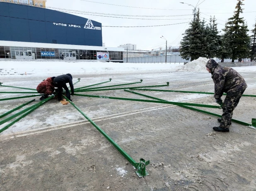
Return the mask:
M63 97L65 97L65 95L63 95ZM74 106L77 111L79 111L82 116L84 116L114 147L116 147L116 149L136 168L138 169L138 171L136 171L136 174L139 177L145 177L148 176L148 172L146 171L146 165L148 165L150 163L150 161L145 161L143 158L140 158L140 163L136 163L135 160L133 160L133 158L131 158L128 153L126 153L126 151L124 151L118 144L116 144L116 142L111 139L111 137L109 137L108 134L106 134L98 125L96 125L96 123L94 123L93 120L91 120L87 115L85 115L84 112L82 112L80 110L80 108L78 108L72 101L70 101L67 97L65 97L65 99L67 101L70 102L70 104L72 106Z

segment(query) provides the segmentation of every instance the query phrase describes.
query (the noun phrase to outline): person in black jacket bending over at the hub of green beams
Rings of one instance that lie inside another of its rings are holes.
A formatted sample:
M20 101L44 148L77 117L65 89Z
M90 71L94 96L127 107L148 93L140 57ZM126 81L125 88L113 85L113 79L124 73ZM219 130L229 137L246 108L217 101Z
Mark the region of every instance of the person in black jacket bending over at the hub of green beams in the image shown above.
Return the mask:
M61 93L62 93L62 88L66 91L67 98L70 99L70 92L68 90L68 87L66 83L69 83L70 89L71 89L71 94L74 94L74 86L72 83L72 75L70 73L59 75L56 78L54 78L53 83L55 87L58 87L58 101L61 101ZM72 101L70 99L70 101Z

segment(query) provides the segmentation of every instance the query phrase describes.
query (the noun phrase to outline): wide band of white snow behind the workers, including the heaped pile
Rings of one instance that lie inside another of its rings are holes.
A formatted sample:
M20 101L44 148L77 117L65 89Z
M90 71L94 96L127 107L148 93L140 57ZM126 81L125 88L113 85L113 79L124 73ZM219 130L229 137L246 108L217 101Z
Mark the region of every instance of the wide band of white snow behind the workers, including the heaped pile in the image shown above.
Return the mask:
M6 61L0 60L0 76L15 77L20 75L29 76L52 76L65 73L71 74L103 74L103 73L140 73L142 71L181 71L181 72L204 72L206 58L199 58L186 65L177 63L145 64L145 63L114 63L98 61ZM238 72L256 72L256 66L234 67Z

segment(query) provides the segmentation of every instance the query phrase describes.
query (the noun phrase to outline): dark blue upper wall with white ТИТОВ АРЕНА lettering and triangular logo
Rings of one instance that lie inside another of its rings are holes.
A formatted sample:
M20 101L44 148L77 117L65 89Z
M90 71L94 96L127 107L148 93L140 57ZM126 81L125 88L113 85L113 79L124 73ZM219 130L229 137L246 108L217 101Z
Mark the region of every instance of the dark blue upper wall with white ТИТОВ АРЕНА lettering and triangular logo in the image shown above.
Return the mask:
M0 40L102 46L101 23L51 9L0 2Z

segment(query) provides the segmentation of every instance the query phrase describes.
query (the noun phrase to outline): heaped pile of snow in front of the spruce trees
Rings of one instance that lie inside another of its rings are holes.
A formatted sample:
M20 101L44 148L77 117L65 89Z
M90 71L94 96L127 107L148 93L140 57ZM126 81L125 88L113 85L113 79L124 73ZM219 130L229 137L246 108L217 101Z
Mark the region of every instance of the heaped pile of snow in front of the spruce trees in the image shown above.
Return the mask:
M208 72L205 68L205 65L209 59L199 57L196 60L188 62L184 66L178 66L173 68L172 71L182 71L182 72Z

